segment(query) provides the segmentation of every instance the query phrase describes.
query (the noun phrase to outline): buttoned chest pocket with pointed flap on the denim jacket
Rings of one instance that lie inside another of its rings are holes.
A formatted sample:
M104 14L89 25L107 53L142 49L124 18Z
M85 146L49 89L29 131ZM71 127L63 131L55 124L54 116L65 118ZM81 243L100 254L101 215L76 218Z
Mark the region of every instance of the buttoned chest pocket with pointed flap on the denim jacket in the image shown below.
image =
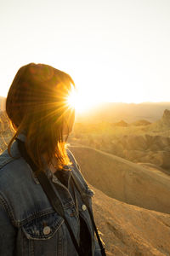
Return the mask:
M65 256L64 219L57 213L34 218L22 226L23 256ZM17 255L18 255L17 254Z

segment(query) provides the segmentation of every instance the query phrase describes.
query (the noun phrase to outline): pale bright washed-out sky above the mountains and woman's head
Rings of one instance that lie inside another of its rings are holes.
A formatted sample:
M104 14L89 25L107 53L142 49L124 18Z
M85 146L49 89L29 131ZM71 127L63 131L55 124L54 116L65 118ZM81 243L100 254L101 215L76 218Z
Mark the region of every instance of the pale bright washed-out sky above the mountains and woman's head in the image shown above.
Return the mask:
M0 96L30 62L69 73L79 101L169 102L169 0L0 0Z

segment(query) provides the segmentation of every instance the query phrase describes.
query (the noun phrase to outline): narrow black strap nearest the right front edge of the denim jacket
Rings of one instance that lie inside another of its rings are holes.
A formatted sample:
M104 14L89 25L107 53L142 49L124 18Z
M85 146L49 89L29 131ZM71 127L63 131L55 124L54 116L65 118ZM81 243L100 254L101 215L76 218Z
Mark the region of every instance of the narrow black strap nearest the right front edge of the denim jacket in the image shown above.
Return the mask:
M81 188L80 184L77 181L77 178L74 175L71 175L71 177L73 178L73 182L75 183L75 186L77 187L78 191L80 192L80 195L82 196L83 203L88 208L88 212L90 214L90 218L91 218L92 224L94 226L94 231L96 233L96 237L97 237L98 242L99 242L99 247L100 247L100 250L101 250L101 254L102 254L102 256L106 256L105 247L103 246L103 243L102 243L102 241L101 241L101 239L99 237L99 232L98 232L98 229L97 229L96 224L94 222L94 214L93 214L93 212L92 212L92 210L91 210L91 208L89 206L88 200L87 200L88 198L87 198L87 196L84 196L82 188Z

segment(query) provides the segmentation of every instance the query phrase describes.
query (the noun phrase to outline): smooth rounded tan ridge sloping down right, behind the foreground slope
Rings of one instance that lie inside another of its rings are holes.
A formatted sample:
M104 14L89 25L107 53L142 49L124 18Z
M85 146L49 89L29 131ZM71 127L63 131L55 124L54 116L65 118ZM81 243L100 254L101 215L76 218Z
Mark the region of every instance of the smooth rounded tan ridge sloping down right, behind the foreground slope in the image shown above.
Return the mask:
M113 154L88 147L70 147L84 177L95 188L119 201L170 213L170 176Z

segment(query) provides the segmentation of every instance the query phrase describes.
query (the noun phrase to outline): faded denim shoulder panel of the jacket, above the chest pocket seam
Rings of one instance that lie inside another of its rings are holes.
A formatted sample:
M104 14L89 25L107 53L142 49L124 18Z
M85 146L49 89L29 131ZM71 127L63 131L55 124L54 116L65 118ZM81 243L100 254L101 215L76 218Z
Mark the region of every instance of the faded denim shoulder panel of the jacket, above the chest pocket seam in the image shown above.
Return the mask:
M8 151L0 155L0 205L17 225L30 216L39 218L48 210L53 212L26 160L10 157Z

